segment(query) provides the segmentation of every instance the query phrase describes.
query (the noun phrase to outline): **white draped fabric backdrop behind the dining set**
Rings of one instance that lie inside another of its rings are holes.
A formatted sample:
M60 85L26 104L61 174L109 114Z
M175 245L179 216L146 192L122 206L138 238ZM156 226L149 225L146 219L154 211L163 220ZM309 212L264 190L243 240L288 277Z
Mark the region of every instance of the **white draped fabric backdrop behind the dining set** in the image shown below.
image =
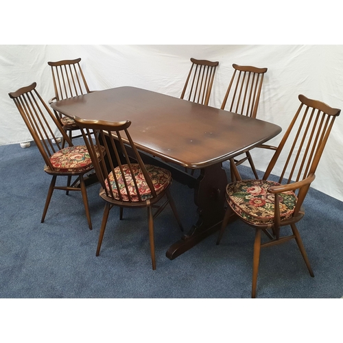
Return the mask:
M0 145L32 140L8 93L37 82L47 101L54 96L47 62L78 57L91 90L137 86L175 97L180 97L189 58L217 60L209 103L217 108L233 63L268 67L257 116L283 130L298 108L299 94L343 109L343 45L0 45ZM342 117L335 122L312 187L343 200L340 132ZM257 168L265 170L270 152L253 150L252 156Z

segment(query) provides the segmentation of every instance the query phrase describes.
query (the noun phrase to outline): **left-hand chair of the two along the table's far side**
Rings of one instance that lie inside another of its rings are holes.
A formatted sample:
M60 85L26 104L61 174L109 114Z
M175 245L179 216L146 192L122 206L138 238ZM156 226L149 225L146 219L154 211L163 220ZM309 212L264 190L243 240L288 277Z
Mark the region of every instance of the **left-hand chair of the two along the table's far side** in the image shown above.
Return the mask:
M219 62L196 60L195 58L191 58L191 62L191 69L180 98L207 106L215 77L215 69Z

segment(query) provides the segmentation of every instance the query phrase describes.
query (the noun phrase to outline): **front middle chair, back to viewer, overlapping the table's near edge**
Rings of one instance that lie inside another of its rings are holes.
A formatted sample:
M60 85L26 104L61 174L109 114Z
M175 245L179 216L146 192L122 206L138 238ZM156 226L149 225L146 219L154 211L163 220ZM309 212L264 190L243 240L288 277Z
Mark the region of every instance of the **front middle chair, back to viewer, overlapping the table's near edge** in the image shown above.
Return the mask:
M120 219L123 216L123 208L146 207L152 269L156 270L154 218L165 209L167 204L171 206L178 225L183 231L174 200L169 193L172 181L170 171L143 163L128 132L131 121L92 121L78 117L74 119L81 128L95 173L102 186L99 196L106 202L96 256L99 256L108 214L113 206L119 206ZM91 131L95 133L95 139L90 136ZM100 144L104 145L107 161L105 158L99 161L96 156L95 147ZM130 151L130 156L128 151ZM134 158L133 162L132 158ZM163 198L165 198L163 204L158 205L157 203ZM154 214L152 207L157 207Z

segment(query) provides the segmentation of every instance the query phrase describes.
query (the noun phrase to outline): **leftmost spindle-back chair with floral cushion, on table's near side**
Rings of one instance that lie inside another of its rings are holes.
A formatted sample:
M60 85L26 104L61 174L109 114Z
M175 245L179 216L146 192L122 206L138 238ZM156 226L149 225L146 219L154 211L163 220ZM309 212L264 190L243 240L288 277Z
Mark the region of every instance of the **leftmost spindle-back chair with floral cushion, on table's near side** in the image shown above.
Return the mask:
M88 226L92 229L84 175L93 169L93 164L86 146L73 145L56 116L36 91L36 82L9 93L9 95L16 104L16 108L18 108L40 154L43 156L44 171L52 176L41 222L43 223L45 220L54 189L62 189L67 194L69 191L81 191ZM51 123L56 126L58 133L68 143L68 147L62 148L58 143L55 134L56 128L53 128ZM57 176L67 176L67 186L56 186ZM73 176L75 176L75 181L71 185Z

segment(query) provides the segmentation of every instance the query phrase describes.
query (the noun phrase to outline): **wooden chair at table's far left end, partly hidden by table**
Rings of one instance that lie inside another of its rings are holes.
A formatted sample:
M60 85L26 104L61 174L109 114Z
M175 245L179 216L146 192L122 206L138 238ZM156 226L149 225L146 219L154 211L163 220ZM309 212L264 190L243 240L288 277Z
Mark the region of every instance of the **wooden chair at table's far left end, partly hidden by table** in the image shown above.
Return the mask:
M81 58L76 58L75 60L47 62L51 67L55 90L55 96L49 99L49 104L58 100L68 99L69 97L91 93L88 88L86 78L84 78L80 61ZM70 139L82 136L81 134L73 136L73 132L80 129L72 118L63 116L55 110L54 112L58 121L60 121L62 128L68 133ZM62 139L62 147L64 147L64 139Z

